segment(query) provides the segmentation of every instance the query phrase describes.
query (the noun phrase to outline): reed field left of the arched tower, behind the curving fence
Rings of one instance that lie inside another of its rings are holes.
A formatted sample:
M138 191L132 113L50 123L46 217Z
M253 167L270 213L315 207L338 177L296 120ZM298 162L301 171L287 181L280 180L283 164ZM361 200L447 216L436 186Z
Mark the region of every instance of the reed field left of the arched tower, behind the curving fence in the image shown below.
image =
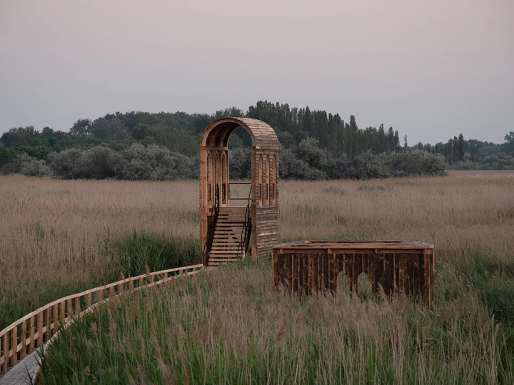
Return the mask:
M198 262L191 186L0 176L0 329L141 266ZM146 260L127 265L127 252Z

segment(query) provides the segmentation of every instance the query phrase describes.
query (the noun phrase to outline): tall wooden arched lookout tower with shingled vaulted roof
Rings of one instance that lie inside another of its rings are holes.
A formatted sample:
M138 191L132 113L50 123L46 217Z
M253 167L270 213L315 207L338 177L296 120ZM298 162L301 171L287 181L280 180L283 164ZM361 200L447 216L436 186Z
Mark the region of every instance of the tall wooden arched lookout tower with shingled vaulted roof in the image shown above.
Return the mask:
M231 199L228 138L242 126L251 136L248 197ZM203 265L271 257L278 242L278 139L257 119L214 120L200 140L200 240Z

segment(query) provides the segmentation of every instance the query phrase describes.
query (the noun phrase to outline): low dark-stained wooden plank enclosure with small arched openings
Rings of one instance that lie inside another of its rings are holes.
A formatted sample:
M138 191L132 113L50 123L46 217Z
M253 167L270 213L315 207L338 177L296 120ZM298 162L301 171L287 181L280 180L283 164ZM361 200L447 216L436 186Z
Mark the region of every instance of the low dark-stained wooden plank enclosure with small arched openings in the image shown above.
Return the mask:
M364 272L378 293L403 293L433 307L433 245L420 242L303 241L273 247L273 284L291 294L337 292L338 274L346 274L357 292Z

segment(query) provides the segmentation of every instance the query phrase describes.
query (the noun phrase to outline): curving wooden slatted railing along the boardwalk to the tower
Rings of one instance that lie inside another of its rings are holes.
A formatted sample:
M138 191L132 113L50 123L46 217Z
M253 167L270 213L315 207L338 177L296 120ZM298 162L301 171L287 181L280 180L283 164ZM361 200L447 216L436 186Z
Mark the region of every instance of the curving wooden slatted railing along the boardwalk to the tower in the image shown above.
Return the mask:
M43 346L59 331L92 306L123 292L151 287L180 276L196 274L203 265L178 267L122 279L121 281L72 294L40 307L0 332L0 377L19 361Z

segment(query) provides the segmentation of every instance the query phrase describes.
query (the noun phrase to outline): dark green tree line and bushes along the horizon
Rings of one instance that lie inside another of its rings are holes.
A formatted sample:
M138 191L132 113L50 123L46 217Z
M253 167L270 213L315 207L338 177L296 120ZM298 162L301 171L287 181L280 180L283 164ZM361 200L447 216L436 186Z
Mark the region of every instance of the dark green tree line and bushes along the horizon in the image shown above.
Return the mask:
M462 135L444 144L408 148L406 137L401 146L398 131L385 130L383 124L361 129L354 116L345 122L326 111L258 101L246 112L235 107L213 114L117 112L79 119L69 132L11 128L0 137L0 170L54 178L197 178L201 133L222 116L260 119L276 130L281 178L442 175L447 165L467 161L468 153L473 160L484 158L480 154L485 145L465 141ZM229 141L232 178L248 177L249 146L250 135L238 128Z

